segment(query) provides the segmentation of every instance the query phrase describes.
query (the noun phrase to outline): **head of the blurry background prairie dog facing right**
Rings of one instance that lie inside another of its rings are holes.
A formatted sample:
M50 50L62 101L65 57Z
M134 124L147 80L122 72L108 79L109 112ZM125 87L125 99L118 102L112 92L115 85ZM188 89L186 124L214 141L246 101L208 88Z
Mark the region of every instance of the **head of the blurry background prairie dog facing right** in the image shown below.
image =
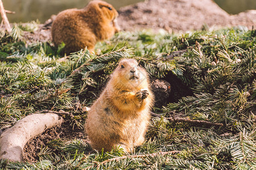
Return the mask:
M88 4L88 8L93 7L96 8L102 14L102 18L113 21L118 16L117 10L105 1L90 1Z

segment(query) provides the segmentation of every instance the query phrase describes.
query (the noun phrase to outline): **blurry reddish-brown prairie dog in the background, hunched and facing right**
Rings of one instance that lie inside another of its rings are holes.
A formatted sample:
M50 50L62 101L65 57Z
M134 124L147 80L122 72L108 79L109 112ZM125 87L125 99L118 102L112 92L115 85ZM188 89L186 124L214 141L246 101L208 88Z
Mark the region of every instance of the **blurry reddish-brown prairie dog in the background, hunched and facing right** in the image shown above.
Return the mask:
M67 54L84 48L93 52L97 41L109 39L119 31L117 16L117 10L105 1L90 1L80 10L64 10L52 23L52 40L55 46L64 42Z

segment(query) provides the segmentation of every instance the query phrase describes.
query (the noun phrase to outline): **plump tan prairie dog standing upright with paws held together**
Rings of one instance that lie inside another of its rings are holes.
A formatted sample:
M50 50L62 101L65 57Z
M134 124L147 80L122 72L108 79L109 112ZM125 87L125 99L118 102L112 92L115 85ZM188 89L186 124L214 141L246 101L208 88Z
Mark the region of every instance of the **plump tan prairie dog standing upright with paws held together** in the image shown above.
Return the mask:
M142 145L153 99L146 70L135 59L122 59L88 112L90 145L98 151L120 146L125 152Z

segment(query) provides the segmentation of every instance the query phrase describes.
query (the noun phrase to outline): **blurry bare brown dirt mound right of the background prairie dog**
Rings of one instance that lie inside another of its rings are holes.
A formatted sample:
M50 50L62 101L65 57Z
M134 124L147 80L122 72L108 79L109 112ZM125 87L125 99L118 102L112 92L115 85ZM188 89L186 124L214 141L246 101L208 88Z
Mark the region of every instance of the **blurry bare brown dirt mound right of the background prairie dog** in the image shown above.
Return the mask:
M168 32L199 30L204 25L251 28L256 22L256 11L229 15L212 0L147 0L121 7L118 23L123 30L165 29Z

